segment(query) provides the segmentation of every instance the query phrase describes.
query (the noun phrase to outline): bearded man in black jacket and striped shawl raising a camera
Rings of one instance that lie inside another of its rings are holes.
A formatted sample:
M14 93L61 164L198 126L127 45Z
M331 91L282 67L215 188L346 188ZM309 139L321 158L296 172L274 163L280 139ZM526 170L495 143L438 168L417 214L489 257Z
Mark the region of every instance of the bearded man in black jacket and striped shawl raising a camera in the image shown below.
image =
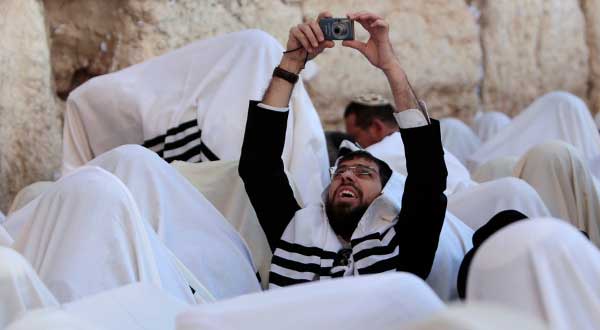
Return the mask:
M331 14L318 19L324 17ZM367 12L348 18L370 38L342 45L362 53L390 84L408 177L404 182L369 152L351 152L338 159L323 200L300 208L281 160L290 95L305 61L335 44L325 40L316 21L293 27L262 101L250 101L239 164L274 251L270 287L388 271L425 279L432 268L446 213L439 122L427 116L412 91L392 49L388 23Z

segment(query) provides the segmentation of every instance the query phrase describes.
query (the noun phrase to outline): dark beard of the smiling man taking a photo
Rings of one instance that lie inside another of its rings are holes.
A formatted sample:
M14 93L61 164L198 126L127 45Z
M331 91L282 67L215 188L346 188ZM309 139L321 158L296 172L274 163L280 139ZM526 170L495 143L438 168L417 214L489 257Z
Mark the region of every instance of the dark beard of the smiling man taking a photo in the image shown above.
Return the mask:
M346 203L334 205L330 199L327 199L325 203L325 213L329 219L329 225L337 235L347 242L350 242L350 238L367 208L369 205L364 204L355 207Z

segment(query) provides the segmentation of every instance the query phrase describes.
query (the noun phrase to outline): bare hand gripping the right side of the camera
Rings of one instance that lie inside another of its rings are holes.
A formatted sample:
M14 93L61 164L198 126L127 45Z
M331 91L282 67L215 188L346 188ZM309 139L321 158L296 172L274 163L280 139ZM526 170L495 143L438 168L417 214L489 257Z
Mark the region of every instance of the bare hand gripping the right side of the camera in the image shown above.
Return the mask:
M343 46L358 50L371 64L384 72L400 67L390 42L390 26L381 16L358 12L348 14L348 18L360 23L369 32L370 37L366 43L358 40L344 40Z

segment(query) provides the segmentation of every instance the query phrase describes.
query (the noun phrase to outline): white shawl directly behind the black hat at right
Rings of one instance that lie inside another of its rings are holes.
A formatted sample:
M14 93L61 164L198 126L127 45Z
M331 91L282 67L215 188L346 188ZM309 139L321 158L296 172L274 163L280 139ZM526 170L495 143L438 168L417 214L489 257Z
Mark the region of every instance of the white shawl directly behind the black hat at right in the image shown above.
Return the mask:
M517 178L488 181L454 194L448 198L448 210L473 230L505 210L519 211L529 218L551 216L535 189Z

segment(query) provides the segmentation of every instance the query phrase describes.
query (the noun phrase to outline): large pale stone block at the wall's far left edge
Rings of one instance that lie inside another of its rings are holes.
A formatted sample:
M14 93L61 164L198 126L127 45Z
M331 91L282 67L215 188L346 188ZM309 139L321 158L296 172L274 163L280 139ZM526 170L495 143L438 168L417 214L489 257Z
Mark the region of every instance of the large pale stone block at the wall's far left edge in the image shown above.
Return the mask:
M52 179L61 160L43 6L0 1L0 210L25 185Z

